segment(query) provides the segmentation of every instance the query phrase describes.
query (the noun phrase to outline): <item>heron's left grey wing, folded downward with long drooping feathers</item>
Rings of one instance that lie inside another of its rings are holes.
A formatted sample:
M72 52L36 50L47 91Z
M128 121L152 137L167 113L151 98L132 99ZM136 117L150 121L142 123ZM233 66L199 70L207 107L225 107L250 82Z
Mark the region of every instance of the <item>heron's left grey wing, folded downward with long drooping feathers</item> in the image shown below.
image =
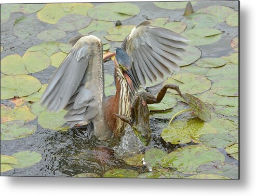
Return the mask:
M95 36L79 36L51 78L41 103L50 111L68 110L71 127L89 123L102 107L104 93L102 44Z

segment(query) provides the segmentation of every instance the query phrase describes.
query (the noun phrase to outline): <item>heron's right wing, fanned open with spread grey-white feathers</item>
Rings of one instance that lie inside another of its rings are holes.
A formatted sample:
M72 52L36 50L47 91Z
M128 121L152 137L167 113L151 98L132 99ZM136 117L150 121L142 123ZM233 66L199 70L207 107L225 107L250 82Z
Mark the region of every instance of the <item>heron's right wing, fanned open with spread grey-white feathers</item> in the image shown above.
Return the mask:
M145 87L146 80L153 82L170 75L170 69L179 70L182 54L188 41L180 34L145 21L134 27L123 42L122 48L132 61L132 74L137 86Z

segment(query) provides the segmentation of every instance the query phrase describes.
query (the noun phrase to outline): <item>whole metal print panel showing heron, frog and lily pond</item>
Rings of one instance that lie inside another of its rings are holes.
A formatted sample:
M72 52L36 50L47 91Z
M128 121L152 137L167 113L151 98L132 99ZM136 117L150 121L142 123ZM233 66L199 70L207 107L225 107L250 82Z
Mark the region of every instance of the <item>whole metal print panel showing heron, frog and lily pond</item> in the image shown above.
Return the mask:
M1 4L1 176L239 179L239 2Z

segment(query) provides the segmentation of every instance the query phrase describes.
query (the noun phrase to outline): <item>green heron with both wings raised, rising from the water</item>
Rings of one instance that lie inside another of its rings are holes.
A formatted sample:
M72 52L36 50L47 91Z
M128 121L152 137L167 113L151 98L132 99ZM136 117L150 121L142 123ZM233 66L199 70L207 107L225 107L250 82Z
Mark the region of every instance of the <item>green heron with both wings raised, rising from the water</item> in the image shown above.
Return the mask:
M116 93L104 94L103 49L93 35L69 41L72 50L52 76L41 103L50 111L65 109L70 127L87 124L101 140L119 137L126 122L114 114L130 116L130 103L140 86L179 70L188 41L173 31L151 26L149 21L134 27L117 48L114 59Z

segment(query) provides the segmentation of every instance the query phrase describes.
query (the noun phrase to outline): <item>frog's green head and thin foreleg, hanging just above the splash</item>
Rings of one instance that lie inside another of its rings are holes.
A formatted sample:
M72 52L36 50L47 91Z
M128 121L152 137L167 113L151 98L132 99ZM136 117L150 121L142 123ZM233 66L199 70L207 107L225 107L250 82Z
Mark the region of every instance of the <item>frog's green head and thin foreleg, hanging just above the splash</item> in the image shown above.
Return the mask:
M114 113L113 113L114 114ZM144 146L149 145L150 140L151 140L151 129L150 129L150 124L149 122L144 122L144 124L134 124L133 121L131 121L128 117L114 114L124 122L128 123L131 125L131 128L135 135L140 139L142 144Z

